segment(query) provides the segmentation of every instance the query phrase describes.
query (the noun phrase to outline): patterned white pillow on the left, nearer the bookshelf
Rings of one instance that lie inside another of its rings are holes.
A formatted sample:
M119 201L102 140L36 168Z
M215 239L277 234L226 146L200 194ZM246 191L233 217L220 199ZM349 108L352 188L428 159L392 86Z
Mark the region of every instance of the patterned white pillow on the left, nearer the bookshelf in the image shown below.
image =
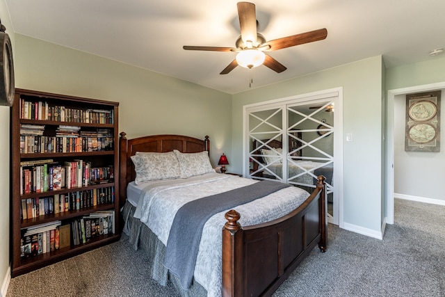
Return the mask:
M143 152L131 156L136 171L135 184L181 176L179 161L173 152Z

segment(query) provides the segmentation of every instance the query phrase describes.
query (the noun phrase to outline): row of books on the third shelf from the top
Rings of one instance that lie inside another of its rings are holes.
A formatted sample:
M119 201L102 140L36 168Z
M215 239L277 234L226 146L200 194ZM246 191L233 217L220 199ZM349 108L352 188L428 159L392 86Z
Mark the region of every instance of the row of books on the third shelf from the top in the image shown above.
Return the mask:
M20 162L20 195L104 184L113 180L112 165L92 167L91 162L82 159L64 161L63 164L54 162L54 159Z

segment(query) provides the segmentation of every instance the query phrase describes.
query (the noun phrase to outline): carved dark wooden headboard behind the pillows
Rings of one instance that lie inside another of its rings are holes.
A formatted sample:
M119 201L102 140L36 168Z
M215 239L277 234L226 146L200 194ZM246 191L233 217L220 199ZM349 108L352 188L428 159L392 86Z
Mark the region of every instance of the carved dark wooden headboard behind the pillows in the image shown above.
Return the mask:
M136 152L203 152L207 150L210 155L209 136L204 140L182 135L152 135L133 139L127 139L125 132L120 133L119 145L119 167L120 167L120 206L127 199L127 184L136 177L131 156Z

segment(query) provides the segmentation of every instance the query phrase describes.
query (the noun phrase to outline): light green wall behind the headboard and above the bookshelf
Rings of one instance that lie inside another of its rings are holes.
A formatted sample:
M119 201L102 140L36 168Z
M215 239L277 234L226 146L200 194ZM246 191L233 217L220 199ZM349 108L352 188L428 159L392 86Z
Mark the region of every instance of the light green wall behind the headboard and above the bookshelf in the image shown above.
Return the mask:
M17 88L120 102L127 138L211 139L214 166L231 147L231 95L49 42L16 35Z

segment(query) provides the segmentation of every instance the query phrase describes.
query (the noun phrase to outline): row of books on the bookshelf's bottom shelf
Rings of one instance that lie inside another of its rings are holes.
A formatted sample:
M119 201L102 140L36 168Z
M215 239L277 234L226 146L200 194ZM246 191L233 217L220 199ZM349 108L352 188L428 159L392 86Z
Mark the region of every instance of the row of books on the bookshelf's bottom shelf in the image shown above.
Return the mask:
M88 243L103 234L114 234L114 218L113 210L97 211L67 223L56 220L22 229L20 256L35 257L60 248Z

